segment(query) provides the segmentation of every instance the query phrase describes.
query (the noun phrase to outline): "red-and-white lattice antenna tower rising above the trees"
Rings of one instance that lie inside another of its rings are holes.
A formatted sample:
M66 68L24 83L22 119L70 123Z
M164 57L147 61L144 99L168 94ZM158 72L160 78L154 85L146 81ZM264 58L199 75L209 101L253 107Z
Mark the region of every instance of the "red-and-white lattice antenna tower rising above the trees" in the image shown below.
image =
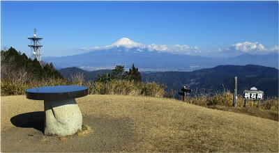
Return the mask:
M40 62L40 56L42 56L43 51L40 51L40 47L43 47L43 45L40 45L40 40L43 38L38 38L37 35L37 29L34 29L34 34L32 38L28 38L31 41L31 45L28 45L31 48L31 56L33 58L37 58L38 62Z

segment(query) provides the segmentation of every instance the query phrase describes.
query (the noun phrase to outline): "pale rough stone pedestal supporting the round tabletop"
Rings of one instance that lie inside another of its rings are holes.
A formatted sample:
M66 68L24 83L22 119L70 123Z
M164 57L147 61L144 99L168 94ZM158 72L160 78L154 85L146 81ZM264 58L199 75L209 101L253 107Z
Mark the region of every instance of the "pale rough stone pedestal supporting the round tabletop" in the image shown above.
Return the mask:
M81 129L82 113L75 99L45 100L45 135L68 136Z

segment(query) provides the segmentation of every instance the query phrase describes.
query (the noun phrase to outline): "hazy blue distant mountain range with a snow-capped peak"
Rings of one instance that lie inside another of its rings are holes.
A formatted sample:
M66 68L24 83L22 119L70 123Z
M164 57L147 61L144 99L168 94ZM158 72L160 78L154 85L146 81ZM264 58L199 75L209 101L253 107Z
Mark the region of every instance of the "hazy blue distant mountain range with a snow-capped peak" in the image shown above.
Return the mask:
M183 47L183 46L179 46ZM187 47L187 46L186 46ZM162 47L161 47L162 48ZM112 69L115 65L130 67L133 63L140 71L193 71L217 65L264 65L278 68L278 53L242 54L231 58L195 56L200 54L172 54L157 45L141 45L122 38L107 47L95 47L89 52L74 56L45 57L56 69L79 67L83 70ZM158 50L159 49L159 50ZM169 48L177 49L177 47ZM195 47L192 49L195 51Z

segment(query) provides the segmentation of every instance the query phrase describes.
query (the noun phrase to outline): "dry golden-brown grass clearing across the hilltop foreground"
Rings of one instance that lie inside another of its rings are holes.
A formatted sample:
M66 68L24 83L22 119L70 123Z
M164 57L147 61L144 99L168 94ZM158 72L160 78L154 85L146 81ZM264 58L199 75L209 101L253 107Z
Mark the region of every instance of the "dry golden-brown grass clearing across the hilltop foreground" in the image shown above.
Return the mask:
M50 137L42 133L42 101L1 97L1 152L279 152L274 120L155 97L76 101L91 130Z

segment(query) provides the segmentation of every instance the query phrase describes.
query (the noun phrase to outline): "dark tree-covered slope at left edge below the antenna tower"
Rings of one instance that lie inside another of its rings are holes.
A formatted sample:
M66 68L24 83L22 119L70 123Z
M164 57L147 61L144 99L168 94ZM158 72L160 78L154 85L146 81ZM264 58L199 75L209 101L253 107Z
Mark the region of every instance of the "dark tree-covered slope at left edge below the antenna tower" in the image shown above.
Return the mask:
M32 60L13 47L1 51L1 81L13 79L33 81L47 78L62 79L63 77L55 70L52 63L42 61L40 64L36 58Z

